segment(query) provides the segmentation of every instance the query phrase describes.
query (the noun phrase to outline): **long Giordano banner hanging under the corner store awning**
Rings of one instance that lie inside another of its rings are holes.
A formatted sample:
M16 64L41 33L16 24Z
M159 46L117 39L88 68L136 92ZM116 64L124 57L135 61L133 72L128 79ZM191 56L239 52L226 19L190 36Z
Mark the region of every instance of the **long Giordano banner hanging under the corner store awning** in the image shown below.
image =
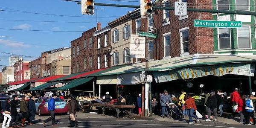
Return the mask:
M209 67L192 67L181 70L169 70L163 72L153 72L157 83L172 81L176 79L190 79L203 76L223 76L227 74L254 76L254 64L222 64Z

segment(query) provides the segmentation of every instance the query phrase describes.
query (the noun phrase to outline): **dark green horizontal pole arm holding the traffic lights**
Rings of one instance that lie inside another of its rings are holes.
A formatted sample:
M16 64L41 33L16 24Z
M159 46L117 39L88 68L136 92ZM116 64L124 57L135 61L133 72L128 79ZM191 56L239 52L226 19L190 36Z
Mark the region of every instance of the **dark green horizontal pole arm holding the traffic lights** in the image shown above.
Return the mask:
M81 4L81 2L78 2ZM94 3L96 6L113 6L113 7L125 7L125 8L140 8L140 6L134 5L121 5L121 4L109 4L109 3ZM153 9L162 9L162 10L174 10L174 7L161 7L153 6ZM210 13L225 13L225 14L238 14L238 15L255 15L256 12L250 11L229 11L229 10L211 10L211 9L187 9L190 12L210 12Z

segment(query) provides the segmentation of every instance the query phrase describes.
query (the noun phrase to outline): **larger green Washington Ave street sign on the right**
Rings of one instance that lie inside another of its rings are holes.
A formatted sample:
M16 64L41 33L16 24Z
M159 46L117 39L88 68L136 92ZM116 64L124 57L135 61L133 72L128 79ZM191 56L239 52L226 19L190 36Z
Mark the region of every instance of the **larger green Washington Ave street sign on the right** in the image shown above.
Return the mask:
M242 21L194 20L194 27L241 28Z

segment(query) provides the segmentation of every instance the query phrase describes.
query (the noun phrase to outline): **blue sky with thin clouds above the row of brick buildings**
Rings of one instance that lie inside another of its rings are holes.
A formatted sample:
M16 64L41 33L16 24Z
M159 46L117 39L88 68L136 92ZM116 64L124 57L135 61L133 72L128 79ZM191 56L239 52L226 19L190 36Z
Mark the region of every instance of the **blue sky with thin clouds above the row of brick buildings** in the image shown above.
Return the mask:
M95 0L95 3L140 4L140 0L130 1L134 2ZM125 15L128 11L134 10L133 8L108 6L96 6L96 9L104 9L97 11L98 22L102 23L102 27L107 26L108 22ZM47 50L70 47L70 41L80 37L82 32L35 32L4 29L86 31L96 26L96 14L92 16L81 15L81 5L78 5L76 2L62 0L0 0L0 10L4 10L0 11L0 52L8 52L17 55L39 57L41 52ZM17 10L25 11L25 13L21 13ZM28 12L81 17L39 15ZM37 22L10 20L37 20ZM56 23L46 21L90 23ZM2 59L0 65L9 64L9 54L0 53L0 58ZM24 60L35 59L23 58ZM0 69L2 68L3 67L0 66Z

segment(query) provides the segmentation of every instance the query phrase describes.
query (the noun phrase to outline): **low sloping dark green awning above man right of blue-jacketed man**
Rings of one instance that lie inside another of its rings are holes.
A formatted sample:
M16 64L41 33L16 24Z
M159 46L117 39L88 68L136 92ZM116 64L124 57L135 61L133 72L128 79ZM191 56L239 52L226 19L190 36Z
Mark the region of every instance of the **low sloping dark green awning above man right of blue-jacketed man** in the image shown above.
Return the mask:
M79 86L81 84L84 84L90 80L92 80L94 77L87 77L87 78L79 78L71 81L69 84L66 84L65 86L55 88L53 90L67 90L76 86Z

